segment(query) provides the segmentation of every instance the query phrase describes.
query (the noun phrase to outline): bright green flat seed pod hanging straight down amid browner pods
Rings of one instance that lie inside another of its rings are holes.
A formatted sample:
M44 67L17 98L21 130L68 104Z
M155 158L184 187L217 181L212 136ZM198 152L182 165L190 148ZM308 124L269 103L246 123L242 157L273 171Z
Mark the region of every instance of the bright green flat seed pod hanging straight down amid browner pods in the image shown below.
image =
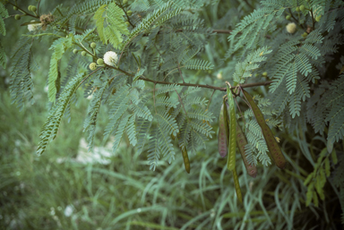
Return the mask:
M236 107L234 105L234 98L232 92L227 85L228 98L228 160L227 167L229 171L236 168ZM226 109L224 109L226 110Z

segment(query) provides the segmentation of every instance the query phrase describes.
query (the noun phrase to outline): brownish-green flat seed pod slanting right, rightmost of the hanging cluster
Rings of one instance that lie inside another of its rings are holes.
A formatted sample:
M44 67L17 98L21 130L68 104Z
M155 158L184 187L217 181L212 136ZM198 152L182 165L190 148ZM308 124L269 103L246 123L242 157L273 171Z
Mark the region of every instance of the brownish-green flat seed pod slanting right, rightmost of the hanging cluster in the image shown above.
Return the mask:
M262 115L262 111L259 109L257 105L255 105L254 99L251 97L251 95L248 92L246 92L243 89L243 93L248 103L250 104L252 110L254 111L254 116L255 116L255 119L257 120L257 123L262 128L262 135L264 136L266 144L268 145L271 158L275 162L276 166L280 168L284 168L286 166L287 161L284 158L283 153L280 150L280 146L277 143L275 137L273 136L271 129L265 123L265 119L264 119L264 116Z

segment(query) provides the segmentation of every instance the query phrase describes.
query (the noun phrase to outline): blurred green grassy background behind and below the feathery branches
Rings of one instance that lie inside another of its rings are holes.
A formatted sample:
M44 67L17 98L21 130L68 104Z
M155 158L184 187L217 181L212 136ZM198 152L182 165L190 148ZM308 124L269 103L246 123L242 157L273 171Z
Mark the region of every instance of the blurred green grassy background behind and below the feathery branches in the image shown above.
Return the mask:
M241 3L245 1L223 1L220 6L213 2L200 14L214 29L234 26L236 20L231 24L221 21L227 13L238 20L252 11ZM255 1L249 2L256 5ZM22 1L25 8L29 4L36 2ZM48 13L57 4L73 3L42 1L40 11ZM14 14L10 6L7 8ZM20 24L29 20L5 20L7 35L1 37L1 42L8 66L15 42L28 30ZM204 52L215 66L226 53L228 35L217 36ZM219 158L217 135L207 143L206 150L189 156L190 175L177 149L172 164L162 159L157 170L150 171L147 156L135 154L129 141L122 141L114 154L110 142L101 142L107 124L107 107L103 106L96 147L89 153L82 124L90 100L82 97L82 90L70 121L63 120L56 140L44 155L37 156L39 131L48 112L45 87L50 42L43 39L34 45L34 58L40 66L32 72L36 103L22 112L11 105L10 69L0 67L0 229L340 229L339 194L331 183L325 184L326 199L320 200L318 208L305 207L303 183L313 167L300 145L310 151L319 149L316 143L297 140L288 132L279 136L289 162L286 170L259 165L257 177L252 178L246 174L242 160L237 159L243 204L236 200L227 159ZM214 47L218 49L216 54L211 52ZM225 75L235 63L221 67L221 74L223 71ZM216 78L218 70L206 74L206 83L221 85ZM193 81L193 77L187 81ZM210 93L205 96L209 98ZM263 87L261 94L267 94ZM221 96L215 93L211 106L219 107L215 101ZM216 132L217 119L211 125ZM315 134L307 135L307 140L323 141Z

